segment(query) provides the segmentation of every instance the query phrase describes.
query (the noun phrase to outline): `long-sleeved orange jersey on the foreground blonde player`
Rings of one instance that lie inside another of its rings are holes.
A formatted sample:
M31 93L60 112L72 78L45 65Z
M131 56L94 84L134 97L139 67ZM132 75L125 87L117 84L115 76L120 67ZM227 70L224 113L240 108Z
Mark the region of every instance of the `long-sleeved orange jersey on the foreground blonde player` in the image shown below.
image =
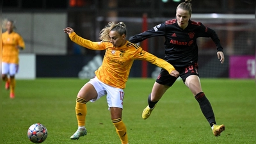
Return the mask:
M69 35L70 39L78 45L93 50L105 50L105 56L102 65L95 71L97 78L103 83L115 88L125 88L125 83L129 77L129 73L134 60L146 60L150 63L172 72L175 68L161 58L157 58L136 44L126 41L122 47L114 47L108 41L92 42L75 32Z

